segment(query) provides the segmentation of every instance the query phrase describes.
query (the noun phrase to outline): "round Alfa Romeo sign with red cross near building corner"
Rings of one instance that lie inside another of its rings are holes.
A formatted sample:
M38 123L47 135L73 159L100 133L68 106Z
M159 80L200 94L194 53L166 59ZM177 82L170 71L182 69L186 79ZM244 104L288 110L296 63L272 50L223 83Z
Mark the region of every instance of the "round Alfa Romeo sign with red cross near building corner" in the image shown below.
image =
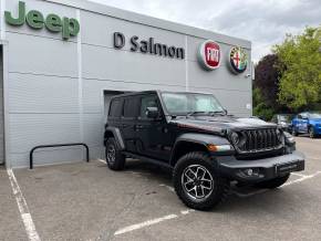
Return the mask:
M247 70L248 56L240 46L234 46L229 52L229 64L234 73L240 74Z

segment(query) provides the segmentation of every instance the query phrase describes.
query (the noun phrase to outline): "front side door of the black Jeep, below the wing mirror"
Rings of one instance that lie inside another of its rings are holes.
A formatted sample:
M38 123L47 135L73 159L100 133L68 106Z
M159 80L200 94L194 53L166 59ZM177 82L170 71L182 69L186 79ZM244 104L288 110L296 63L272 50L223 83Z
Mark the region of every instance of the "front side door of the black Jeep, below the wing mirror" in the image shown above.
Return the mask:
M147 107L157 107L159 117L148 118ZM156 94L141 96L139 114L135 126L136 148L143 156L168 161L173 144L170 143L170 133L168 132L166 119L161 111Z

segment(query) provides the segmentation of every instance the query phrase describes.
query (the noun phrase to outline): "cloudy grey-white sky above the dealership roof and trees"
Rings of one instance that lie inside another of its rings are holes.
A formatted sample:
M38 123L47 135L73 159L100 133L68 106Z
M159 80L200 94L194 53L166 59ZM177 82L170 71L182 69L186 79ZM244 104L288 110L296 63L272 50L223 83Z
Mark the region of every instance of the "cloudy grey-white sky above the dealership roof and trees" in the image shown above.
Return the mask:
M258 62L281 43L321 24L321 0L91 0L251 41Z

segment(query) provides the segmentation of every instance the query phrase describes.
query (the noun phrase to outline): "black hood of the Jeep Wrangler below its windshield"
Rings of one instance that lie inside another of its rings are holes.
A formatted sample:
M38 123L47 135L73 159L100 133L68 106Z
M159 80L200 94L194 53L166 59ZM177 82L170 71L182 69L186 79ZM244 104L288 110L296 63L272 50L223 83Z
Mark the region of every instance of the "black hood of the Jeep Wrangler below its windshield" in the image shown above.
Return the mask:
M221 133L226 129L257 129L276 128L276 124L267 123L262 119L251 117L242 118L236 116L189 116L172 119L172 124L180 127L213 130Z

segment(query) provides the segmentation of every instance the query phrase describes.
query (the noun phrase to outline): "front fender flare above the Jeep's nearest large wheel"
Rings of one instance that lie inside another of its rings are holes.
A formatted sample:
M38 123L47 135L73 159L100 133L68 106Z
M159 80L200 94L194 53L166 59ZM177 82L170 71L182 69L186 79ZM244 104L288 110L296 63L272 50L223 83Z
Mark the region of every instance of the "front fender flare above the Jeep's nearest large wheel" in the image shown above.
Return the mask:
M214 144L214 145L230 145L230 143L228 142L228 139L226 139L222 136L215 136L215 135L210 135L210 134L199 134L199 133L186 133L186 134L182 134L180 136L177 137L174 147L173 147L173 151L170 155L170 160L169 164L173 165L173 163L175 161L175 154L176 150L179 147L179 144L182 143L193 143L196 145L201 145L207 149L207 145L209 144Z

